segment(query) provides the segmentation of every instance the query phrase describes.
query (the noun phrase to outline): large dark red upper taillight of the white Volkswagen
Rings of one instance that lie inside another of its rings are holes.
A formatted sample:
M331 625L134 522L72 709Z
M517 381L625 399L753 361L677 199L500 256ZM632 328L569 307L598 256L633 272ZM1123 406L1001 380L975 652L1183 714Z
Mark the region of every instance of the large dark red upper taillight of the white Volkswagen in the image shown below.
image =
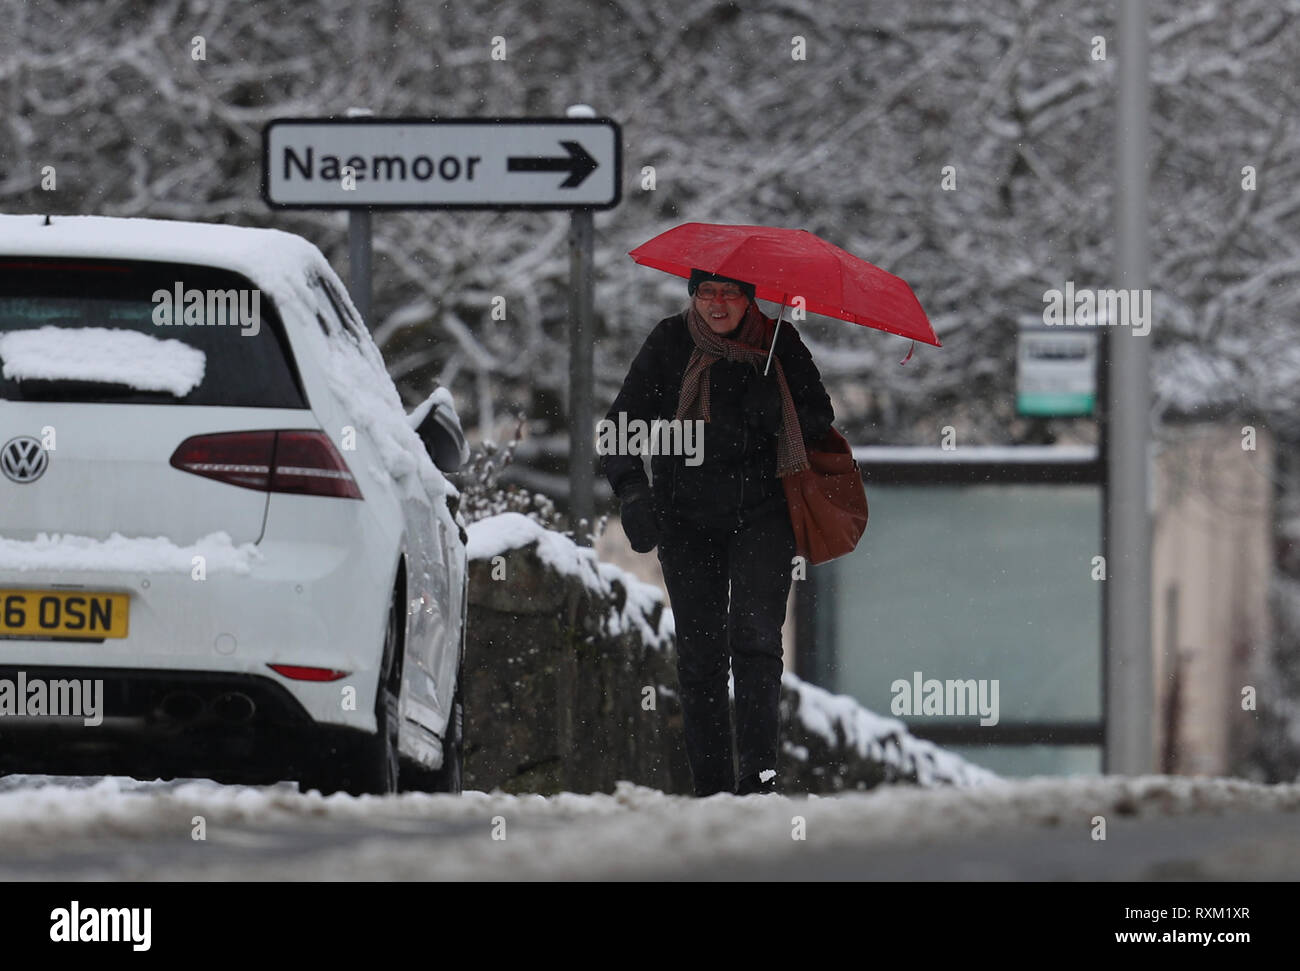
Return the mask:
M182 472L270 493L360 499L347 463L324 432L222 432L186 438L172 454Z

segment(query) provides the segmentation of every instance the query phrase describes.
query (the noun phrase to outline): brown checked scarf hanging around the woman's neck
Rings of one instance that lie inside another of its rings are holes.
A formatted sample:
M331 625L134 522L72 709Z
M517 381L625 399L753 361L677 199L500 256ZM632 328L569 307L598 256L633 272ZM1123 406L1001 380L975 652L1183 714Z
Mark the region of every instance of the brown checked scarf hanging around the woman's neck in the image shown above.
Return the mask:
M715 360L725 357L729 361L744 361L754 367L760 380L767 380L762 377L762 372L767 363L767 348L772 346L776 321L764 317L754 300L749 302L740 328L733 331L732 337L715 334L708 322L699 316L694 303L686 309L686 329L690 331L696 347L690 352L686 372L681 378L681 396L677 399L677 413L673 417L710 420L708 367ZM807 469L809 459L803 448L800 419L794 411L794 399L785 382L785 370L781 368L781 359L775 354L772 355L772 368L776 370L776 381L781 389L781 428L776 442L776 474L789 476Z

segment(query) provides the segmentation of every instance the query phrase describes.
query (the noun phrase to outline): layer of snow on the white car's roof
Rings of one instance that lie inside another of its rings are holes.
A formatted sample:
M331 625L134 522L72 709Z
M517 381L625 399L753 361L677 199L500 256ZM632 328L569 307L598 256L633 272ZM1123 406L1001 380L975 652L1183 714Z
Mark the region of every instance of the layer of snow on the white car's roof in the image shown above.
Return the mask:
M278 229L112 216L0 216L0 256L82 256L196 263L240 273L276 290L286 274L324 257L302 237Z

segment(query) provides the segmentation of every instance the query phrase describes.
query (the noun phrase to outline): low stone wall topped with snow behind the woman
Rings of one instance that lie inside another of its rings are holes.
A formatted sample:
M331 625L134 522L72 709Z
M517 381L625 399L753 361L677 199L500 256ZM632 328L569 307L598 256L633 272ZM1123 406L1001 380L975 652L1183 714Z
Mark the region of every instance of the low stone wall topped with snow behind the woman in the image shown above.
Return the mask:
M469 533L465 788L689 794L662 591L519 513ZM788 794L993 777L789 673L781 721Z

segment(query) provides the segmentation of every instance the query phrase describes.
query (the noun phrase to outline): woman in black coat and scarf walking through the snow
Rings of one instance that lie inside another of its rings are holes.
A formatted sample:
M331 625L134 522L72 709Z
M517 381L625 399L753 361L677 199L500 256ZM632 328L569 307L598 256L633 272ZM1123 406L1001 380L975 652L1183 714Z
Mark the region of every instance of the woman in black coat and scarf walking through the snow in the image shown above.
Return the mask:
M602 468L632 549L659 547L696 796L775 793L781 625L796 552L780 476L807 467L806 447L835 412L788 322L763 374L775 321L758 309L751 283L696 269L688 292L690 305L646 338L606 417L618 422L623 412L651 428L656 419L701 420L703 460L653 455L653 487L640 455L604 455Z

